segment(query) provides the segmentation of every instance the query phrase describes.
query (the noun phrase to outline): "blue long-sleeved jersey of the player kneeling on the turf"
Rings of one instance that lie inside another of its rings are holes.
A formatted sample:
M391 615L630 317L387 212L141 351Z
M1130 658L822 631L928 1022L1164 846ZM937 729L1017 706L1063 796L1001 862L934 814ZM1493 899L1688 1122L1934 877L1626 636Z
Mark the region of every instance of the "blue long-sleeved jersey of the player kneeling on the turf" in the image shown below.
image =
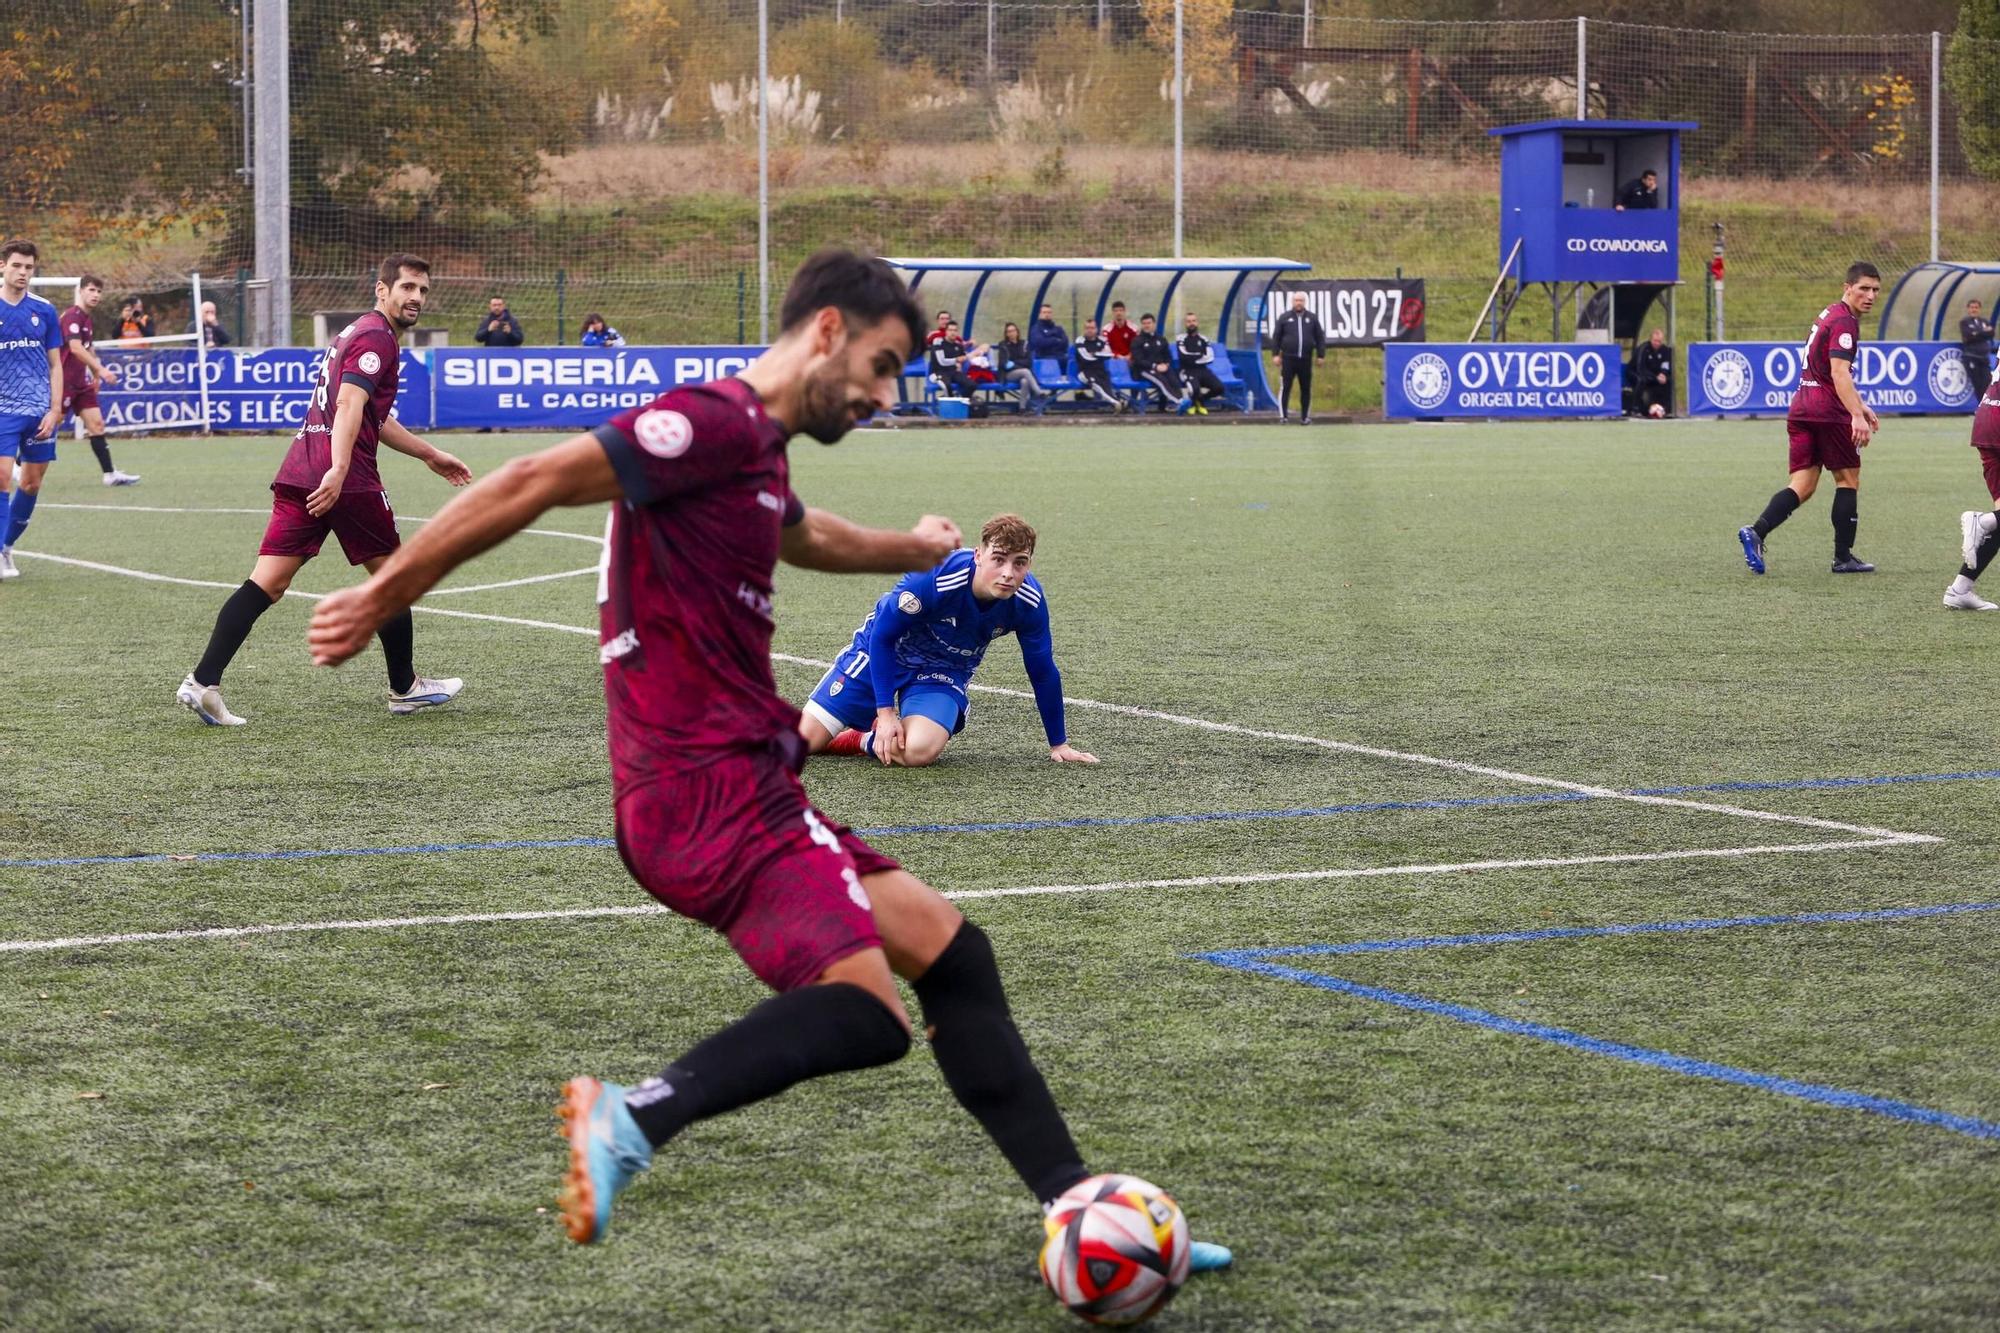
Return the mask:
M972 594L972 564L970 550L954 550L936 568L904 574L854 630L836 671L872 691L878 709L894 707L912 685L944 685L964 695L986 646L1014 634L1048 745L1062 745L1068 735L1062 673L1048 636L1048 594L1028 574L1014 596L980 600Z

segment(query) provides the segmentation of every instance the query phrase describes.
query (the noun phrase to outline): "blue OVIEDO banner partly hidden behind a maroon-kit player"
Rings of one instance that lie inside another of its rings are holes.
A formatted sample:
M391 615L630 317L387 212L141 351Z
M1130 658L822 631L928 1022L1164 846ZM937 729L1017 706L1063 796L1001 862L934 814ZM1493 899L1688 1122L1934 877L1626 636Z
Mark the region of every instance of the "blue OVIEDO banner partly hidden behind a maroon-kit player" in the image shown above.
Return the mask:
M1690 416L1784 416L1798 388L1798 342L1690 342ZM1956 342L1862 342L1854 388L1876 412L1970 412Z

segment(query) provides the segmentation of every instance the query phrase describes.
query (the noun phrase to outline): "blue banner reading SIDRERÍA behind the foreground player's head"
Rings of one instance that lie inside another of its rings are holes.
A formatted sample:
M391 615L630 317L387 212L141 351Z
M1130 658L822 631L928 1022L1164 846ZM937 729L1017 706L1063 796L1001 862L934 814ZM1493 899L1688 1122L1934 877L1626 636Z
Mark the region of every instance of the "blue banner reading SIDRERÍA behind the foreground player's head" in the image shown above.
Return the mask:
M438 430L586 430L678 384L720 380L756 346L518 346L430 352Z

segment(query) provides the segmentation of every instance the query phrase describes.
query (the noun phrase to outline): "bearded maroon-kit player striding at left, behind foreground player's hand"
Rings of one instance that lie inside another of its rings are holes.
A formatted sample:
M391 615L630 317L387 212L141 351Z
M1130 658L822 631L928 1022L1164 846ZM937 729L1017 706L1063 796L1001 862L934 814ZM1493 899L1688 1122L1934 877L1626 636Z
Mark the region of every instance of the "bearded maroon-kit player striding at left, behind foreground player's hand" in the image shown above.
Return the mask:
M258 548L256 568L230 592L216 614L208 650L174 699L210 727L242 727L222 703L222 671L250 636L258 616L278 604L292 586L298 566L320 554L332 532L348 564L368 572L382 568L400 544L396 514L376 472L376 442L420 458L424 466L464 486L470 468L452 454L432 448L390 416L396 406L398 338L416 324L430 294L430 264L414 254L390 254L376 270L374 310L340 330L320 362L312 386L306 424L286 450L278 476L270 482L270 526ZM382 622L382 652L388 656L388 711L416 713L450 703L464 681L430 681L410 664L414 630L410 612Z

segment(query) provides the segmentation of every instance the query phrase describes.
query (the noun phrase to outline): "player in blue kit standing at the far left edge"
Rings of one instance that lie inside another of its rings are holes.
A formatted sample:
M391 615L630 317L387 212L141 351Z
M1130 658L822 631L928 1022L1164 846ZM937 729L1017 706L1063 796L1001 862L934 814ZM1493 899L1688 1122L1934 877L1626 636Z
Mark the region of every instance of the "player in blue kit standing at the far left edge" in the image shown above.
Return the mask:
M30 240L0 244L0 578L20 576L14 542L56 460L62 420L62 328L56 306L28 290L38 260Z

